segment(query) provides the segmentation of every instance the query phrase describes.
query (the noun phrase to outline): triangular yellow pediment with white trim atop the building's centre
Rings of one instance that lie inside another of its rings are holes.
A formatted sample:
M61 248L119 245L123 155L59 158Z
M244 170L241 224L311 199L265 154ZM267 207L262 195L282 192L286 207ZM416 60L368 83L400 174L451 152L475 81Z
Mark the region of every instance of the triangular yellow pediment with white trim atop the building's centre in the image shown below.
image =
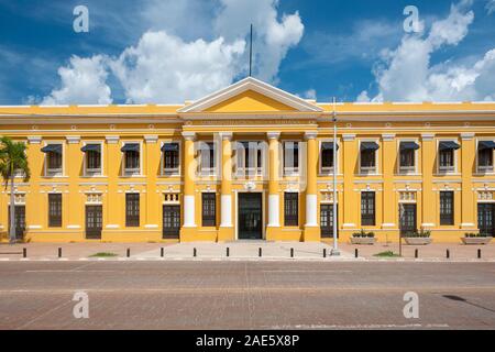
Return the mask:
M252 77L201 98L179 113L321 112L318 106Z

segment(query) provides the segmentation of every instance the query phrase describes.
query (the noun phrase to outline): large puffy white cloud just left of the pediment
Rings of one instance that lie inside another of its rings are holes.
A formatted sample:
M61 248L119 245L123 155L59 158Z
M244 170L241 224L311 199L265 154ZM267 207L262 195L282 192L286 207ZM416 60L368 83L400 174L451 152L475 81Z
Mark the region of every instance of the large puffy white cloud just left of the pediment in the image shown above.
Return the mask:
M182 102L228 86L244 47L243 40L185 43L163 31L147 32L110 66L128 102Z

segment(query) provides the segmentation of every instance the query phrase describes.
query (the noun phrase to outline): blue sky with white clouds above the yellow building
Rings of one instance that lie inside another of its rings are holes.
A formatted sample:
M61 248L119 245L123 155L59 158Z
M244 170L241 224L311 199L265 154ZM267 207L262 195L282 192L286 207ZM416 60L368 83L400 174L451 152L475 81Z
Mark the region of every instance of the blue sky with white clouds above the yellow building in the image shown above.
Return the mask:
M88 33L73 30L78 4ZM421 33L403 29L410 4ZM306 98L495 100L494 10L493 0L0 0L0 105L196 99L246 75L251 22L254 76Z

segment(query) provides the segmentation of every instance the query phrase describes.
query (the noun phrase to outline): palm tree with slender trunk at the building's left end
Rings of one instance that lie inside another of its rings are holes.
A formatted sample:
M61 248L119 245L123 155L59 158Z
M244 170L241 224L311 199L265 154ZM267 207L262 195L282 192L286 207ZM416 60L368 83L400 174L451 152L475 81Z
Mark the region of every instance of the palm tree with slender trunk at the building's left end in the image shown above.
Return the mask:
M6 183L6 189L10 183L10 243L15 241L15 172L21 172L24 175L24 182L28 182L31 176L25 150L24 143L13 142L8 136L0 138L0 174Z

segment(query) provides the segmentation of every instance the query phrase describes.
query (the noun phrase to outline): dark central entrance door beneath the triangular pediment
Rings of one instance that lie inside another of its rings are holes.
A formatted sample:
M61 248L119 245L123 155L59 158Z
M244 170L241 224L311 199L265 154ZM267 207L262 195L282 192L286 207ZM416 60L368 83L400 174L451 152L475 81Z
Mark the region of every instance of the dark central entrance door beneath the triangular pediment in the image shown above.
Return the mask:
M239 240L263 239L262 194L239 194Z

